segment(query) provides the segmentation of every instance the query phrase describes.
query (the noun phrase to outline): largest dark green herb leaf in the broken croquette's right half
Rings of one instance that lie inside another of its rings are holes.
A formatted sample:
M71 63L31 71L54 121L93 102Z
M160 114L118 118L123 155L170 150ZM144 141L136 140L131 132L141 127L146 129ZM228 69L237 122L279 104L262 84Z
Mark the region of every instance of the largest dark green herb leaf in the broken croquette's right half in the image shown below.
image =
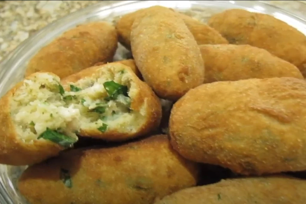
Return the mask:
M123 86L114 81L104 82L103 86L108 94L108 97L105 98L106 100L115 100L120 94L123 94L124 96L129 96L127 86Z

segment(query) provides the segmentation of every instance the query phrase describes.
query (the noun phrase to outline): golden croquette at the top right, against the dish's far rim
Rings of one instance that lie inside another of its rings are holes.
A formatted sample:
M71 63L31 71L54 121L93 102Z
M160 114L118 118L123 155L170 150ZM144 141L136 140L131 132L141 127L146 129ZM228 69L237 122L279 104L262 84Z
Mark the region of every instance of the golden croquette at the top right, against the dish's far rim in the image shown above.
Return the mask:
M289 61L306 76L306 36L272 16L230 9L213 15L208 24L232 44L249 44Z

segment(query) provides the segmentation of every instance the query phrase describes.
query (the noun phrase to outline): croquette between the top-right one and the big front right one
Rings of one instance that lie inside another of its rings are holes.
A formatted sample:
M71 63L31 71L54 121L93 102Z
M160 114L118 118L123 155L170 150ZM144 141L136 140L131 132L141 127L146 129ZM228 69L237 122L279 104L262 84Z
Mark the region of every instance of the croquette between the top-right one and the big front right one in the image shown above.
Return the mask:
M204 83L272 77L304 79L296 66L258 47L250 45L200 45L199 47L205 64Z

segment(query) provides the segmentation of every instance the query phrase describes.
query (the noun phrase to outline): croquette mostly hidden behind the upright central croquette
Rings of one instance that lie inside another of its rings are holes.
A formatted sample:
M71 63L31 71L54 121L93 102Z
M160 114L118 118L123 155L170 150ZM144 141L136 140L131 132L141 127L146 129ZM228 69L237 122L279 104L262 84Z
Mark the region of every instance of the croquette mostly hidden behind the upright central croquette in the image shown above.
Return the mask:
M118 34L119 42L127 49L131 48L131 30L133 22L136 18L142 18L152 10L158 12L166 7L152 6L145 9L139 9L133 13L128 13L122 16L116 23L116 30ZM167 8L168 9L168 8ZM174 11L173 9L169 9ZM193 19L185 14L176 12L177 16L184 20L184 23L192 33L198 45L202 44L228 44L227 40L222 37L218 31L209 27L207 24L201 23L198 20Z

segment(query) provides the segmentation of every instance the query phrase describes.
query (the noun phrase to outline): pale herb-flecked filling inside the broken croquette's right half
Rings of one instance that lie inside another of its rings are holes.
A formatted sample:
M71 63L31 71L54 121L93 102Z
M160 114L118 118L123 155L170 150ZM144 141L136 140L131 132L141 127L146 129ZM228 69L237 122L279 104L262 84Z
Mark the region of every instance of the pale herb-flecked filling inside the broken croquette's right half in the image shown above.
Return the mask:
M70 83L65 97L80 110L80 129L127 133L136 132L145 122L146 102L137 111L131 108L138 91L126 70L110 65Z

